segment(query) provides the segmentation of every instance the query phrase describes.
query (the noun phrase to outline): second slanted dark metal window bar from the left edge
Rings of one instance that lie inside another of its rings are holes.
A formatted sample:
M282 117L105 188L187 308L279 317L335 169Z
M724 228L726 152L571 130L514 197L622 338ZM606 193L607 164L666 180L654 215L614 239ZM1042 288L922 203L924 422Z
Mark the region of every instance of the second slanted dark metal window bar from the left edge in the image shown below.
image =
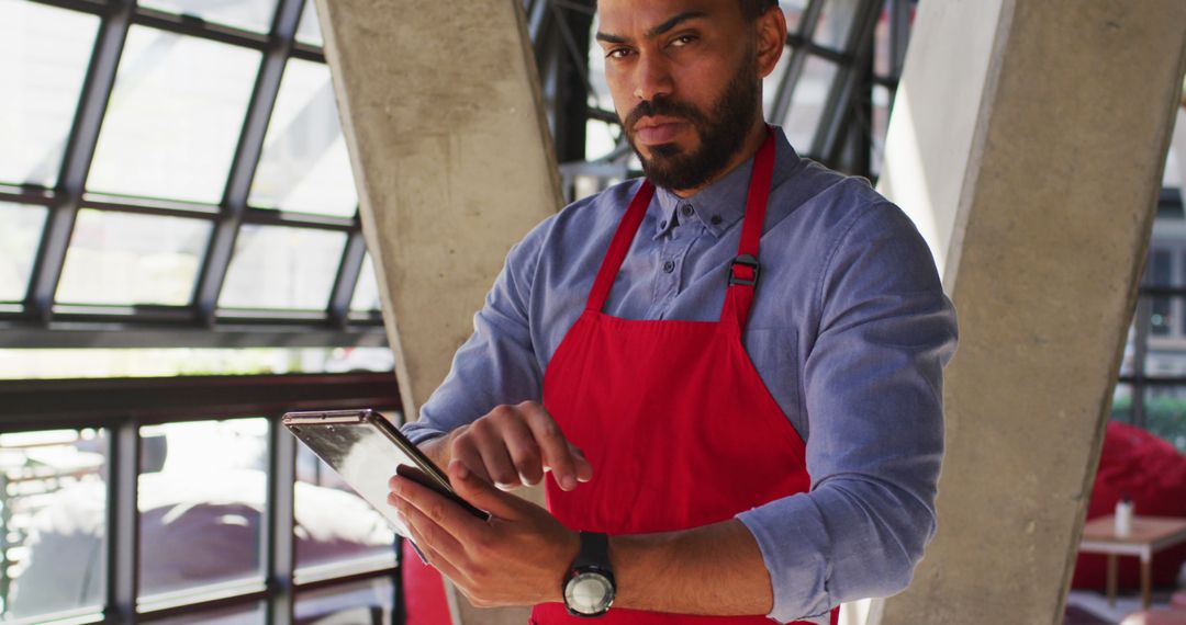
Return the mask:
M260 73L251 91L251 101L247 109L243 131L240 134L235 157L231 161L227 189L223 193L222 212L202 263L193 302L197 305L198 320L208 327L215 324L218 305L218 294L222 291L230 268L231 254L235 251L235 239L247 208L247 198L251 189L255 167L263 152L263 138L268 129L268 120L280 94L280 79L283 76L285 63L292 52L300 21L304 0L281 0L272 25L272 37L260 64Z

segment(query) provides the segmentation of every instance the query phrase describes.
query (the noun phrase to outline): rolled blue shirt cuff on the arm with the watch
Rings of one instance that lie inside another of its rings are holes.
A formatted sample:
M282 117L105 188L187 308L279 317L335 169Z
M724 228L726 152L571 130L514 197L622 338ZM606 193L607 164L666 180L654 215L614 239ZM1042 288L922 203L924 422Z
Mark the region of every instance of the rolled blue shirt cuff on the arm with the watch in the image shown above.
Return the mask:
M820 623L828 623L831 541L815 502L806 495L795 495L741 513L737 518L758 541L770 572L774 605L766 617L778 623L818 618L824 619Z

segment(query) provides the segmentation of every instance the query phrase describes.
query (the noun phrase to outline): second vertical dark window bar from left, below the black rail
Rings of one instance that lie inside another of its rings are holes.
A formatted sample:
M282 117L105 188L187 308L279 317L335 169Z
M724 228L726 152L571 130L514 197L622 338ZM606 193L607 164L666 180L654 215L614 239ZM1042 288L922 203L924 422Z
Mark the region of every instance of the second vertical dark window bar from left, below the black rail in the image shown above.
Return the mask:
M267 623L289 625L293 621L294 491L296 481L296 442L280 423L268 420L268 503L263 529L264 581L268 588Z

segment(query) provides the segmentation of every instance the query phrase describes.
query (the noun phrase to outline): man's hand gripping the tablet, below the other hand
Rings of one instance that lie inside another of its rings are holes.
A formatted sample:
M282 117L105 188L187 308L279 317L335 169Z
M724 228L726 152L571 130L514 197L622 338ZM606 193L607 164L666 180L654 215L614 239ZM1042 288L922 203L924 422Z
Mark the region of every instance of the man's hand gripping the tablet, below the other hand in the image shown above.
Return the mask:
M391 477L398 510L428 562L478 607L560 601L580 539L547 510L500 492L460 460L448 465L458 495L491 514L482 521L410 479Z

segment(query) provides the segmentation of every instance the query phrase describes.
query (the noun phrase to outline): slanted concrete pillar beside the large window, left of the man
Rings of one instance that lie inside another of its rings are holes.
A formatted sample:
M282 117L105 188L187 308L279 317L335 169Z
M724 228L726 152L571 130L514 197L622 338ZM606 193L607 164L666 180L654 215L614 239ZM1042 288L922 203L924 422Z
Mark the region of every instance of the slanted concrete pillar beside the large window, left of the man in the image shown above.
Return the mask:
M522 11L519 0L317 0L412 418L511 245L561 206ZM457 623L527 620L449 594Z

